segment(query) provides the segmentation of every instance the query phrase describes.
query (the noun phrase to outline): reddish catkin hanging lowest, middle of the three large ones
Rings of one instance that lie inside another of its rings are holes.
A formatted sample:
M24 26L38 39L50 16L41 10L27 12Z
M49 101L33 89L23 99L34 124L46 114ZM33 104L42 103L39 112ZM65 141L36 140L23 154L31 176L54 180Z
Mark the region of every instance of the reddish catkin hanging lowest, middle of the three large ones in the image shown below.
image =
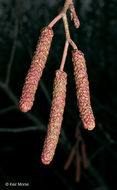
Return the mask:
M41 155L43 164L49 164L54 156L58 143L66 98L67 74L61 70L56 71L54 80L53 101L48 124L48 131Z

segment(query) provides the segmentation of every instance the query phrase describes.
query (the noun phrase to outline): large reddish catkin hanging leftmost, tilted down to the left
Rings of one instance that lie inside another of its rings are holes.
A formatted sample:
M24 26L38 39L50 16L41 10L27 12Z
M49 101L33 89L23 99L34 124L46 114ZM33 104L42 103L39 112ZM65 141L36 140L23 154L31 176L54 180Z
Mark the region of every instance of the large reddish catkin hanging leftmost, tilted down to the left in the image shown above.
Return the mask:
M53 35L53 30L50 27L45 27L41 30L41 36L39 37L20 98L19 107L22 112L29 111L33 105L35 92L46 64Z

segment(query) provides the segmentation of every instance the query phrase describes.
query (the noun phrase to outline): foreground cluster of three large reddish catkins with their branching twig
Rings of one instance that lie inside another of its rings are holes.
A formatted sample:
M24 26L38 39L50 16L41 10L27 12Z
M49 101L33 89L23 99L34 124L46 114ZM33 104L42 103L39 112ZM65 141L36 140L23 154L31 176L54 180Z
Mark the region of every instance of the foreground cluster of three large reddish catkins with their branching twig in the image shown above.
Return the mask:
M54 91L50 119L41 155L41 159L44 164L49 164L53 159L63 120L67 84L67 74L63 71L63 69L69 44L71 44L73 47L72 60L74 63L74 76L76 81L76 93L80 116L86 129L92 130L95 127L95 120L90 105L89 83L85 59L83 53L78 51L77 46L70 38L69 25L66 15L68 8L70 9L71 19L74 21L75 27L79 28L80 21L75 12L74 3L72 0L66 0L61 13L55 17L47 27L41 30L41 35L37 43L31 66L25 78L22 95L19 102L19 107L22 112L27 112L32 108L38 83L42 76L43 69L45 67L49 54L52 38L54 36L52 27L58 20L63 18L66 42L60 69L56 71L54 80Z

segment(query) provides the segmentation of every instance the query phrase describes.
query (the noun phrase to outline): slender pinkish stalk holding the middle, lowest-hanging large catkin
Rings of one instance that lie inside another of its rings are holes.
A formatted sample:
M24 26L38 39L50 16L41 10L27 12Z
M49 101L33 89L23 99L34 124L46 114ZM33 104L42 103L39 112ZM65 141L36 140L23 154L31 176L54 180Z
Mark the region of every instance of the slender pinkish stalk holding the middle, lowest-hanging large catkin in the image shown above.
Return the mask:
M68 47L69 47L69 42L68 42L68 40L66 40L66 42L65 42L65 47L64 47L64 51L63 51L63 57L62 57L62 61L61 61L61 66L60 66L60 70L61 70L61 71L63 71L64 65L65 65Z

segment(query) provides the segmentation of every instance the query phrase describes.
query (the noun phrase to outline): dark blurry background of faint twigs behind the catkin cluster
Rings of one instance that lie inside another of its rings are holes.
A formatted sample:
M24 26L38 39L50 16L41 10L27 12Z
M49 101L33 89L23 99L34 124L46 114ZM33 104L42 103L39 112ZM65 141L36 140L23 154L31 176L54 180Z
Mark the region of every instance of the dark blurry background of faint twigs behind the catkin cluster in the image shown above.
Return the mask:
M69 48L67 98L59 144L52 163L41 163L41 152L52 100L53 79L65 43L62 20L54 38L32 110L21 113L18 101L40 30L60 12L62 0L0 0L0 190L66 189L115 190L117 176L117 0L75 1L80 28L68 11L71 37L85 54L96 128L81 134L89 166L75 182L75 159L64 164L75 143L80 120ZM99 127L102 125L102 129ZM6 187L5 182L27 182L29 187Z

